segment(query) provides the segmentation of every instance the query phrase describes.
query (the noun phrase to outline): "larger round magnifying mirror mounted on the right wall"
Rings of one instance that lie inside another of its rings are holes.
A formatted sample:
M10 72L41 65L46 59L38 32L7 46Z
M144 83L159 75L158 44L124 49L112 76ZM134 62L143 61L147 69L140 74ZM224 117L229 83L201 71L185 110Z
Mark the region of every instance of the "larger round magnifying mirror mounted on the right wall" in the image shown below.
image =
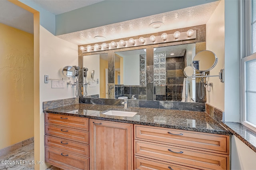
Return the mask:
M192 67L199 72L210 71L217 64L218 58L212 51L204 50L198 52L193 61Z

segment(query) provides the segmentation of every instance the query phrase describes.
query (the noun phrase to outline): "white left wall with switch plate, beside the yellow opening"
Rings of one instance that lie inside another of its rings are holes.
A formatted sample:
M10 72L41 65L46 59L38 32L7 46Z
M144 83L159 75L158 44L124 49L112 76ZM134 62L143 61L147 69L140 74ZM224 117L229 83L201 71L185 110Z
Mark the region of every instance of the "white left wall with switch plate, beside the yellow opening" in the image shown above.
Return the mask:
M43 101L76 97L74 87L70 87L70 85L66 85L65 83L65 88L52 89L51 81L44 83L44 75L49 75L50 79L61 79L63 76L60 70L66 65L78 65L78 46L55 37L44 27L40 26L40 161L43 162ZM40 169L45 169L46 166L46 164L43 164L40 166Z

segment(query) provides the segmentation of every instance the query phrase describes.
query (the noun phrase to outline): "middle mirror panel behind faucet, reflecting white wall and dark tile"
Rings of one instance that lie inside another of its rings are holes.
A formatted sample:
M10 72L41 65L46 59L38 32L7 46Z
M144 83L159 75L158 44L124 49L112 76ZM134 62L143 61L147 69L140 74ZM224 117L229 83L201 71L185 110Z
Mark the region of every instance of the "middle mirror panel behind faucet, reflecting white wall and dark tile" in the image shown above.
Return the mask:
M115 53L115 98L146 100L146 49Z

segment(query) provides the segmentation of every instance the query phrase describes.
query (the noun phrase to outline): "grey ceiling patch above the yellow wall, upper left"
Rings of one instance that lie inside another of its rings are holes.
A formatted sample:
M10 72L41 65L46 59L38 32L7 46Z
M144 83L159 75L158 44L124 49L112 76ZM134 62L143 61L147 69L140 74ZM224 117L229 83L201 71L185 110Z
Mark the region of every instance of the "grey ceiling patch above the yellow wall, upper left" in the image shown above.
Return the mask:
M0 23L33 34L33 19L32 13L7 0L0 0Z

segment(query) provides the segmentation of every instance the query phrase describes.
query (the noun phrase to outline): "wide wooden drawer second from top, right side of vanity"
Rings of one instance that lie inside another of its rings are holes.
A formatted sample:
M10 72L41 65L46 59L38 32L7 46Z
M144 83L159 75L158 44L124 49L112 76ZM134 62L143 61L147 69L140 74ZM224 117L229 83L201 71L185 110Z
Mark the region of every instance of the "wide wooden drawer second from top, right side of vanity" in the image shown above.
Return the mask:
M229 167L229 156L227 155L138 140L135 140L134 147L134 152L137 156L144 156L182 166L216 170L226 170Z

